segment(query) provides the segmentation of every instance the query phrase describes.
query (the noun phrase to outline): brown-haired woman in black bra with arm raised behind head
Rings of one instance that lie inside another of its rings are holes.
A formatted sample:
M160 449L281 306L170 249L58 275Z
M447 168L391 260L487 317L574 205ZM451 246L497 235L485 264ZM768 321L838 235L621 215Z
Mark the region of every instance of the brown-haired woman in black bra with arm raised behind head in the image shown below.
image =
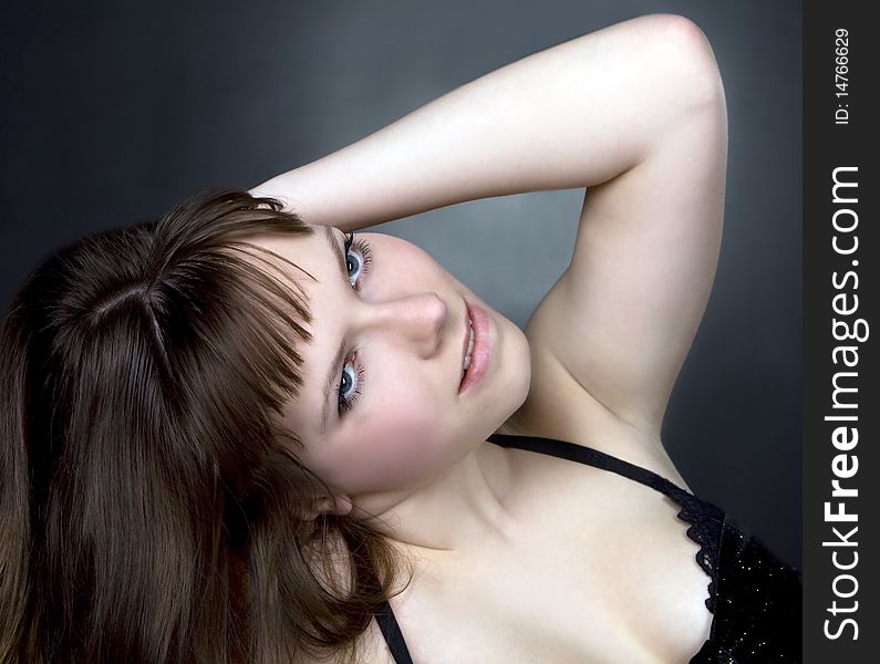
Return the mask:
M3 328L0 662L798 661L799 573L660 438L725 165L711 48L654 14L46 261ZM581 186L525 333L352 235Z

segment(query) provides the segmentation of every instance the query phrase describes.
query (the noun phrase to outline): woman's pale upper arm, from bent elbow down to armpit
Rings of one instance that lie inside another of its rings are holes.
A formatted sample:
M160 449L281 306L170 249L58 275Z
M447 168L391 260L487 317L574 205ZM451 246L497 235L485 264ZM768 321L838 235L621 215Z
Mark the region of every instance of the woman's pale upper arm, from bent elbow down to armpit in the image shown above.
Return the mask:
M571 263L526 330L535 357L658 439L715 274L727 152L724 93L705 37L680 17L667 29L684 66L702 72L698 93L671 98L681 108L639 162L589 188ZM670 63L670 76L677 65ZM540 382L552 371L532 375Z

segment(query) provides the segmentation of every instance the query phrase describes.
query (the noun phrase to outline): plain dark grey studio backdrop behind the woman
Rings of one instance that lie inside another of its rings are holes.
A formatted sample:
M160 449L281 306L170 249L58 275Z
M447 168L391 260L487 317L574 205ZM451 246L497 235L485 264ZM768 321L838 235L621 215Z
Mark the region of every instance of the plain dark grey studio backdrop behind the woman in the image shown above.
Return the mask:
M721 261L663 437L697 495L800 566L798 1L4 2L0 307L77 236L209 185L253 187L493 69L653 12L705 31L729 118ZM570 258L581 200L528 194L373 230L426 248L524 325Z

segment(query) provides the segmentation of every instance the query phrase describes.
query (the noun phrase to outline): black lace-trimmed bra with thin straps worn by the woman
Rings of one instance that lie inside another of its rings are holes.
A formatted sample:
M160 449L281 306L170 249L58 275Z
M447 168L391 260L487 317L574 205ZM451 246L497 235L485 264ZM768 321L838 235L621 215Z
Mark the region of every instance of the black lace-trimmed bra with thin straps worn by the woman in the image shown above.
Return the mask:
M800 662L801 580L796 568L776 558L724 511L652 470L565 440L493 434L501 447L515 447L610 470L656 489L680 507L686 535L700 547L695 559L708 575L710 637L691 664ZM394 612L383 602L375 620L396 664L413 664Z

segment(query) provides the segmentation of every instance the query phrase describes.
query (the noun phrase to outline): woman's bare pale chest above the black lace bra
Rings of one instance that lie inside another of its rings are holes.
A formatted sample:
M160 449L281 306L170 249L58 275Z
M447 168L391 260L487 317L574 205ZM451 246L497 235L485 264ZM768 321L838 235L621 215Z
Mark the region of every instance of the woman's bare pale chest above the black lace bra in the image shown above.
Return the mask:
M414 662L686 663L712 614L679 506L605 470L528 460L516 509L530 537L423 560L391 600Z

